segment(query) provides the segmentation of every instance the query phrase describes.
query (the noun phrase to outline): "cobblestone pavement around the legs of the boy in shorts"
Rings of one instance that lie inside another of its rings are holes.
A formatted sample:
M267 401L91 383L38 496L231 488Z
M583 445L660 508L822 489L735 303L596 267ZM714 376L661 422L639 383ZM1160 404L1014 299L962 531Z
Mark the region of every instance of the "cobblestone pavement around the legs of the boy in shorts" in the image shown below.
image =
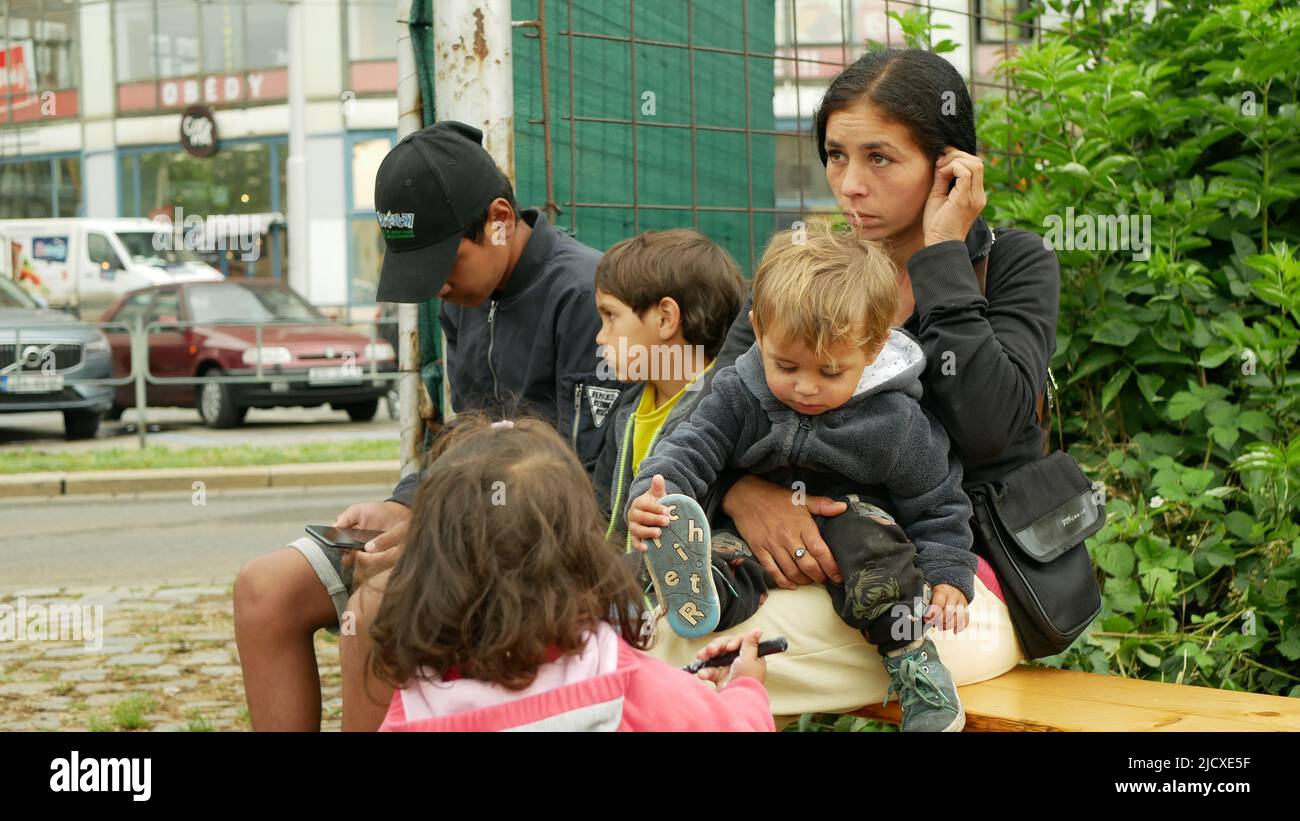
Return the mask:
M103 605L99 642L87 647L84 637L70 639L69 633L64 640L49 640L48 633L32 638L42 622L53 624L56 608L69 605L87 625L96 618L95 605ZM316 634L316 657L321 729L338 730L338 642L324 630ZM229 585L44 588L0 596L0 730L248 729Z

